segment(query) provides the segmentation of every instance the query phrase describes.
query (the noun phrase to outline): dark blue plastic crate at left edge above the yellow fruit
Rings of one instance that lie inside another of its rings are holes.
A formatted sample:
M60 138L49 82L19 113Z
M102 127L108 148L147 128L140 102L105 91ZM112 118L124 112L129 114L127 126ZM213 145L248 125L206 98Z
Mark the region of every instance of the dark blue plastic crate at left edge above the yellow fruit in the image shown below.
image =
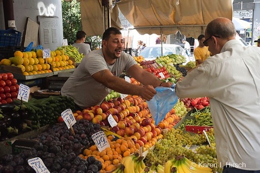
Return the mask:
M8 29L0 30L0 47L20 46L21 32Z

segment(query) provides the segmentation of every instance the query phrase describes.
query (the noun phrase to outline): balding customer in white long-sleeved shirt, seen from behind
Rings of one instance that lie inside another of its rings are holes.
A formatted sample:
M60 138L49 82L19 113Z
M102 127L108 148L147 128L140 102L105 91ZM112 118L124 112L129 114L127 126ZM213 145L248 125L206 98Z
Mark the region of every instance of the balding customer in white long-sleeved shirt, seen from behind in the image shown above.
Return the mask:
M223 173L260 172L260 49L241 46L227 18L208 23L205 38L212 56L178 79L176 95L209 97Z

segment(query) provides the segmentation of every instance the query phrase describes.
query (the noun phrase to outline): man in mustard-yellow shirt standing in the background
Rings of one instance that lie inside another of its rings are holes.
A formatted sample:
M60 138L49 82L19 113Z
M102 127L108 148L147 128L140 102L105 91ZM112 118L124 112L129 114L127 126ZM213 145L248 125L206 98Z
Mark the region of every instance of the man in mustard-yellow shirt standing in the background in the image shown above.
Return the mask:
M205 61L210 57L210 52L208 47L204 46L203 41L205 40L205 35L201 34L198 36L199 46L194 50L194 57L196 61L196 66Z

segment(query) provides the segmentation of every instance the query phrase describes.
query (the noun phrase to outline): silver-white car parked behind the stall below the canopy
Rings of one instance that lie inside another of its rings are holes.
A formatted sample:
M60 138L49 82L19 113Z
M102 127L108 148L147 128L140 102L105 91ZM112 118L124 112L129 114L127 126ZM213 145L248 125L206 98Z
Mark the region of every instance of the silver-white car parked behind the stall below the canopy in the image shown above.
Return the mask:
M163 54L162 50L163 49ZM142 56L146 61L155 60L157 57L165 56L165 55L183 55L186 58L186 63L190 61L189 56L185 53L184 49L179 45L174 44L158 44L153 46L146 46L139 56Z

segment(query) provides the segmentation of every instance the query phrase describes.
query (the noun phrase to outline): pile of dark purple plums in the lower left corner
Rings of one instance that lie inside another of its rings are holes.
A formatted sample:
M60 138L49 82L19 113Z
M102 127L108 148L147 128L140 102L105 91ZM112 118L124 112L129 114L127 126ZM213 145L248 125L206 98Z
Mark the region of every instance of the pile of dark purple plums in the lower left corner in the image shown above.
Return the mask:
M100 161L93 156L82 159L78 155L82 149L94 145L91 135L102 130L100 125L82 119L73 125L73 129L75 136L65 123L53 125L36 138L39 142L32 149L23 150L17 155L4 155L0 162L0 173L35 172L27 162L34 157L40 157L52 173L99 172L102 168Z

